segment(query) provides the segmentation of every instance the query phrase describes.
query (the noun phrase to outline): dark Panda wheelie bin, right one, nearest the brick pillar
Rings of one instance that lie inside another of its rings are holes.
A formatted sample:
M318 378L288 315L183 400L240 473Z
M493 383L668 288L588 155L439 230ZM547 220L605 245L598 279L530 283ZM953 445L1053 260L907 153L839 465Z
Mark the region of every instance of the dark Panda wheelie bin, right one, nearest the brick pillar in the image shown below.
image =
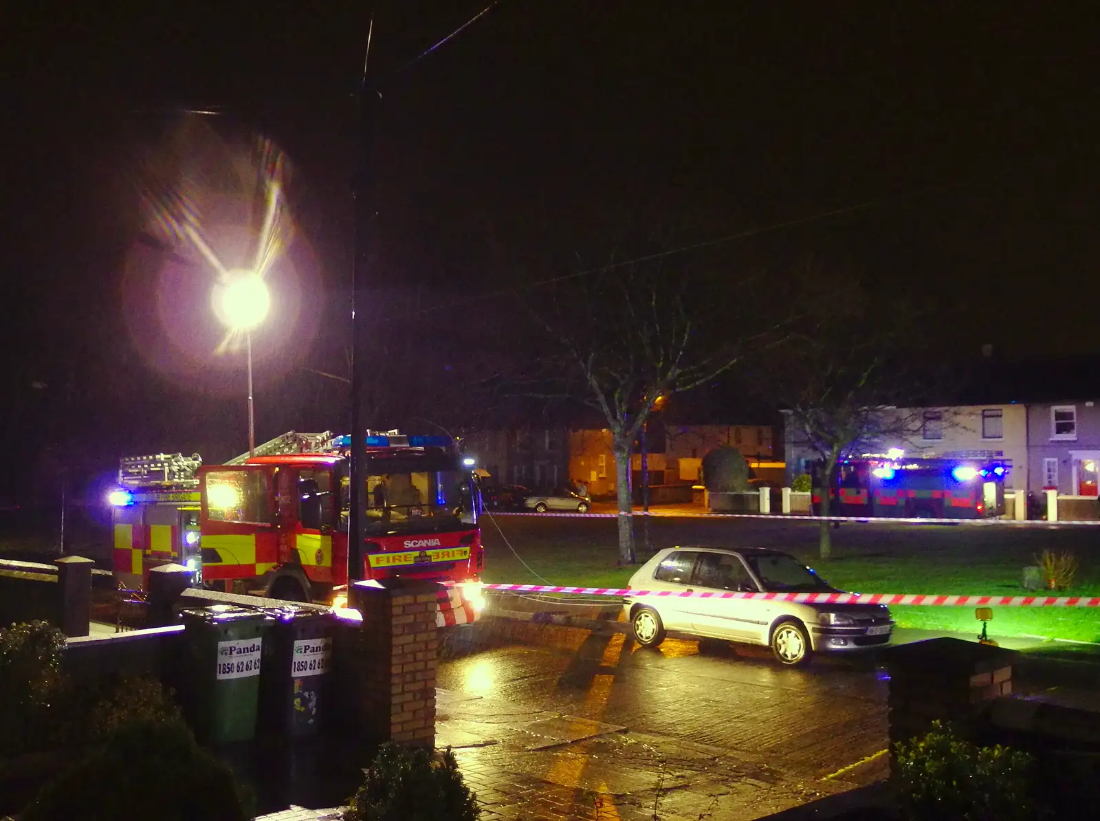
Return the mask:
M272 627L260 677L261 729L292 737L315 735L331 708L336 616L319 607L271 607Z

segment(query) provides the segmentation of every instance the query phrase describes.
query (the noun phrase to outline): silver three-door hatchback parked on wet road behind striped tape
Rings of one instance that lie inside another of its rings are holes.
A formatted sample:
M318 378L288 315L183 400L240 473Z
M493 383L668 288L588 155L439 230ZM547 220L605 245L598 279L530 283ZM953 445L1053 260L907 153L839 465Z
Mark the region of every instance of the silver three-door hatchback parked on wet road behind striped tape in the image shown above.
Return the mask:
M789 554L755 547L673 547L630 577L634 590L676 593L840 592ZM771 647L784 665L814 653L847 653L890 642L893 620L881 604L802 604L719 596L627 596L638 644L656 647L666 631Z

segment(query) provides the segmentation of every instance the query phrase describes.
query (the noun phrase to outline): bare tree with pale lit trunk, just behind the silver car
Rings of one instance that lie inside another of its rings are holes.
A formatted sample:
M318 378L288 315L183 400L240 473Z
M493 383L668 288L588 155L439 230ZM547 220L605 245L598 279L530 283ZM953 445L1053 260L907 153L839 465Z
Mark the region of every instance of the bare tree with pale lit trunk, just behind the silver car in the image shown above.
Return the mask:
M635 442L663 399L715 381L774 331L773 319L747 309L756 285L728 271L652 262L610 265L527 299L548 342L528 372L534 394L579 401L610 431L620 565L637 560Z

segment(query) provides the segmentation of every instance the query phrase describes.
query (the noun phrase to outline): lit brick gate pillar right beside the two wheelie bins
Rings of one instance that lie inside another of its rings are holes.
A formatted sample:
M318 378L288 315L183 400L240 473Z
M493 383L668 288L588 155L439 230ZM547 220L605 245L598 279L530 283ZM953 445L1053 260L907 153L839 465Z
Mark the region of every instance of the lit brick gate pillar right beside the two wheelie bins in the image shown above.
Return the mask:
M349 604L363 622L355 636L351 707L371 741L436 745L436 593L433 582L361 581Z

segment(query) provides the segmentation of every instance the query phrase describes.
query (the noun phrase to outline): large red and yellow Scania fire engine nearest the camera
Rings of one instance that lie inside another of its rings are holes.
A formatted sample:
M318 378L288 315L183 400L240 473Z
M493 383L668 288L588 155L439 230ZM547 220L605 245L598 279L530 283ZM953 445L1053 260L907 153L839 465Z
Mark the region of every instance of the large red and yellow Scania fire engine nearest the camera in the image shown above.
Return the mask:
M454 441L371 431L366 446L362 577L477 582L480 495ZM151 567L174 561L205 587L331 601L348 583L349 447L348 436L290 431L224 464L122 459L116 576L143 585ZM449 622L473 621L475 588L451 601Z

